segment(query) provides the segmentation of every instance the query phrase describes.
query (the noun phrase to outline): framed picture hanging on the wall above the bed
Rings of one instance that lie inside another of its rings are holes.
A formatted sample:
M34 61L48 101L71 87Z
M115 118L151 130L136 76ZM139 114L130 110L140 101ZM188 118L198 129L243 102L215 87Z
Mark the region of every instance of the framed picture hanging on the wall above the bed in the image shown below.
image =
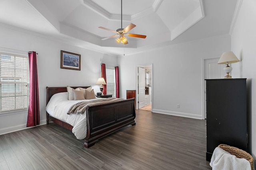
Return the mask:
M60 51L60 68L80 70L81 55L70 53L67 51Z

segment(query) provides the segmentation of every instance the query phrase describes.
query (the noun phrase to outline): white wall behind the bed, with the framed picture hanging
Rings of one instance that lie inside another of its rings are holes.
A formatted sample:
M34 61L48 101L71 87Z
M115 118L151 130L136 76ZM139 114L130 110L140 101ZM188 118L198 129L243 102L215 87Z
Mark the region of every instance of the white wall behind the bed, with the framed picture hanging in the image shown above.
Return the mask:
M100 92L96 81L101 77L101 63L116 66L115 56L62 43L52 37L0 25L0 47L36 51L40 100L40 124L46 123L46 86L92 86ZM1 49L2 50L2 49ZM60 68L60 50L81 54L81 70ZM16 51L18 53L18 51ZM27 111L0 114L0 134L26 128Z

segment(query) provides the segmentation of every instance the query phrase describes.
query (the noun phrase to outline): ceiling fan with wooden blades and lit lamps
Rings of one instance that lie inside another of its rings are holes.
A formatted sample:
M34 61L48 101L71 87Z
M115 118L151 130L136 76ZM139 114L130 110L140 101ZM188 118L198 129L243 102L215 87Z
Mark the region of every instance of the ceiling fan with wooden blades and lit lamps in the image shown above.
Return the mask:
M113 37L119 36L116 39L117 43L128 44L128 41L127 41L125 35L127 35L129 37L146 38L146 35L139 35L139 34L128 33L128 31L130 31L134 27L136 27L136 25L134 25L133 23L130 23L126 28L122 28L122 0L121 0L121 28L118 28L116 31L114 31L112 29L108 29L108 28L105 28L105 27L99 27L101 29L106 29L108 31L116 33L116 35L112 35L110 37L106 37L106 38L103 38L101 40L105 40L105 39L109 39L109 38L113 38Z

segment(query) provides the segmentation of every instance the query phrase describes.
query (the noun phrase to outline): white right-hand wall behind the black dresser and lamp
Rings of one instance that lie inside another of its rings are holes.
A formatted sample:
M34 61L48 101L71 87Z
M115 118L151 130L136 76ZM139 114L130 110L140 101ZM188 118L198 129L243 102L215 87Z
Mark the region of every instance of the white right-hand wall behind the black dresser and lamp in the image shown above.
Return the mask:
M242 2L235 27L232 31L231 49L240 63L233 66L232 76L247 78L250 82L248 95L249 149L256 159L256 1ZM255 166L254 162L254 168Z

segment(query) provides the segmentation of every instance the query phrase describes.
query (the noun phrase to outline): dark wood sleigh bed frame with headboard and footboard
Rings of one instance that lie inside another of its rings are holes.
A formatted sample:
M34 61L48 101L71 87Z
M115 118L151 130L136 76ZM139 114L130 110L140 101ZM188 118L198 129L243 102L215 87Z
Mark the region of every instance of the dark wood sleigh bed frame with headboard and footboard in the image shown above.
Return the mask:
M79 86L88 88L89 86ZM78 88L78 87L71 87ZM46 105L50 98L60 92L67 92L66 87L46 87ZM122 127L135 125L135 106L134 98L112 102L110 104L100 104L97 106L86 107L87 135L84 141L84 147L93 146L98 139L113 133ZM104 117L104 119L102 119ZM68 123L56 119L49 115L46 111L46 123L53 121L66 129L72 131L73 126Z

